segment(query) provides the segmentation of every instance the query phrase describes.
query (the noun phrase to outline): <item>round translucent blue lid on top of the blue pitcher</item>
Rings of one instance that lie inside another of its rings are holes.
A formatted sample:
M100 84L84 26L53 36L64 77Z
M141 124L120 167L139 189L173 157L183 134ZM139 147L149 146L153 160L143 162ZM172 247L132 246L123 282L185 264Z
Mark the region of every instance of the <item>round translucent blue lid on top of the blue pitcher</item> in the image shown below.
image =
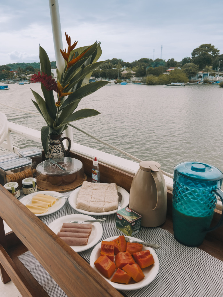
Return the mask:
M216 167L200 162L184 162L174 167L174 175L199 180L199 181L219 181L223 178L223 173Z

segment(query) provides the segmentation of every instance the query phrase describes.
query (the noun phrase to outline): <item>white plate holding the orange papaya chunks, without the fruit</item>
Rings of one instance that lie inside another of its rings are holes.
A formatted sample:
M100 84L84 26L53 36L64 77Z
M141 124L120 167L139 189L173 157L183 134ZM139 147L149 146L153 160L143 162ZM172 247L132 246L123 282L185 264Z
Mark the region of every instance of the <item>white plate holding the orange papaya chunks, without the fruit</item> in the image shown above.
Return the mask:
M117 238L118 236L112 236L112 237L109 237L109 238L106 238L104 239L104 241L111 241L115 238ZM135 237L130 237L130 236L127 236L131 239L135 239L137 241L142 241L138 238L135 238ZM126 291L129 291L129 290L137 290L137 289L140 289L142 287L145 287L147 285L150 284L150 282L152 282L155 277L157 276L158 274L158 271L159 271L159 260L158 260L158 257L156 255L156 252L154 251L154 249L150 248L150 247L145 247L143 246L142 247L142 250L145 251L146 249L148 249L150 251L150 254L153 255L153 259L154 259L154 264L149 266L149 267L146 267L146 268L143 268L142 269L142 272L144 273L145 277L144 279L142 279L140 282L134 282L132 281L130 284L119 284L117 282L111 282L110 280L112 279L113 275L108 279L107 277L104 277L99 271L98 269L95 267L95 261L98 259L98 257L100 257L100 249L101 249L101 242L99 242L96 247L92 250L92 253L91 253L91 256L90 256L90 266L92 266L104 279L106 279L107 282L109 282L110 285L112 285L114 288L116 288L117 290L126 290ZM133 283L134 282L134 283Z

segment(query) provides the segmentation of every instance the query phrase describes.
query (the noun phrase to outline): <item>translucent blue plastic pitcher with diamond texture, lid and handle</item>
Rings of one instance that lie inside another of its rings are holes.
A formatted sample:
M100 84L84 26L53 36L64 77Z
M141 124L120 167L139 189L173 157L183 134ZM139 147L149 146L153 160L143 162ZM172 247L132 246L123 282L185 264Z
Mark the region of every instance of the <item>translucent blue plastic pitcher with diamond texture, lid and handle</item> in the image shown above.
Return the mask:
M174 167L173 174L173 231L182 244L197 247L202 244L207 232L218 228L223 222L223 213L218 224L209 228L216 207L223 173L216 167L184 162Z

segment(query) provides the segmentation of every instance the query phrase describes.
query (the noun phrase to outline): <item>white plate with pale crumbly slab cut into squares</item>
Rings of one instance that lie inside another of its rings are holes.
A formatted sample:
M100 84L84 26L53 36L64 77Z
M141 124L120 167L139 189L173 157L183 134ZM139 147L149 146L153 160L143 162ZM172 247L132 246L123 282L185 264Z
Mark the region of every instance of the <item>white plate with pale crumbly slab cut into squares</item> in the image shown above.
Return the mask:
M121 207L128 206L129 193L114 183L84 181L69 197L70 206L82 214L104 216L115 214L118 208L118 192L122 194Z

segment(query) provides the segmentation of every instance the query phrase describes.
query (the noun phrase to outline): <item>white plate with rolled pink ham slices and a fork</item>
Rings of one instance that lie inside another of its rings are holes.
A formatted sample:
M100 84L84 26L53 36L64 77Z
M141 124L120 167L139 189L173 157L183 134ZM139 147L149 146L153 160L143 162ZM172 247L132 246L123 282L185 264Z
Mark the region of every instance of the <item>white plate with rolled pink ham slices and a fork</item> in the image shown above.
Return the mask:
M75 252L82 252L98 243L103 229L100 222L84 222L82 224L69 221L94 220L84 214L69 214L51 222L48 227L54 231Z

